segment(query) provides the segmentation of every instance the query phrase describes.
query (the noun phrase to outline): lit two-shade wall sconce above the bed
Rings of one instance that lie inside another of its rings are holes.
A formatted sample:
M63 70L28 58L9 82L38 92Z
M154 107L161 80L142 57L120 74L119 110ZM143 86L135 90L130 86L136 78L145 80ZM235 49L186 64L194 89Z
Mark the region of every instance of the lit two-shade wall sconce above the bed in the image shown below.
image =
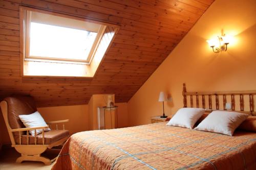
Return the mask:
M229 39L229 36L225 36L225 34L223 34L222 36L209 39L207 42L214 53L220 53L221 51L227 51L227 44L230 42Z

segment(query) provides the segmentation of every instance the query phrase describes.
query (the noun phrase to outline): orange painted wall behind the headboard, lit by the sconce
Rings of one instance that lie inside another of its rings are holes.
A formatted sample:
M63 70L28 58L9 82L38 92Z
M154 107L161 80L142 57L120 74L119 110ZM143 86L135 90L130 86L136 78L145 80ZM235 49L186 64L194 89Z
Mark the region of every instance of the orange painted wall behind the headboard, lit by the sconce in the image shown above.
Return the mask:
M183 107L182 83L188 91L256 89L256 1L216 0L128 102L130 126L150 123L162 114L160 91L172 96L165 113ZM227 52L213 53L206 40L221 35L235 40Z

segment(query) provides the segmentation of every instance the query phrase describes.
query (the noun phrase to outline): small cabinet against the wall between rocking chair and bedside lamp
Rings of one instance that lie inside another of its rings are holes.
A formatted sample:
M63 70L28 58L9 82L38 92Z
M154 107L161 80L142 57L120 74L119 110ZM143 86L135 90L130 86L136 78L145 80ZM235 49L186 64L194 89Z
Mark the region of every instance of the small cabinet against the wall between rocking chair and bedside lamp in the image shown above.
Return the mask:
M118 128L117 108L118 108L118 106L98 107L98 129L99 130L106 129L106 125L107 125L106 116L108 116L108 117L110 116L111 129ZM112 113L114 113L114 122L112 121L112 119L113 119Z

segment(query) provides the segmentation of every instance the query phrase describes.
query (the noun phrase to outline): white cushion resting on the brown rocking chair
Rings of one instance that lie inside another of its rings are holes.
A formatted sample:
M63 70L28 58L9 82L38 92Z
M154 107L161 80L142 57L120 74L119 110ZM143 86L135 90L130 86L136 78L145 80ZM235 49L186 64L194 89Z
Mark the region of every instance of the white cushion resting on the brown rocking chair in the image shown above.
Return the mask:
M42 116L38 111L32 114L19 115L19 118L20 120L22 120L26 128L47 126L44 118L42 118ZM51 129L50 128L44 129L44 131L49 131L49 130ZM29 133L35 136L35 130L30 130ZM40 133L42 133L41 129L36 130L37 135Z

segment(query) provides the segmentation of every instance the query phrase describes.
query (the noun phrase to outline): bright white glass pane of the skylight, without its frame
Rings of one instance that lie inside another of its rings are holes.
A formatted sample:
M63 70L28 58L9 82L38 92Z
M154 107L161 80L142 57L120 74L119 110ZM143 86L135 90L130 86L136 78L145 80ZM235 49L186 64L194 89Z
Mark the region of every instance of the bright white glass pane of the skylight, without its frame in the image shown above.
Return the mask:
M30 57L89 59L97 33L31 22Z

